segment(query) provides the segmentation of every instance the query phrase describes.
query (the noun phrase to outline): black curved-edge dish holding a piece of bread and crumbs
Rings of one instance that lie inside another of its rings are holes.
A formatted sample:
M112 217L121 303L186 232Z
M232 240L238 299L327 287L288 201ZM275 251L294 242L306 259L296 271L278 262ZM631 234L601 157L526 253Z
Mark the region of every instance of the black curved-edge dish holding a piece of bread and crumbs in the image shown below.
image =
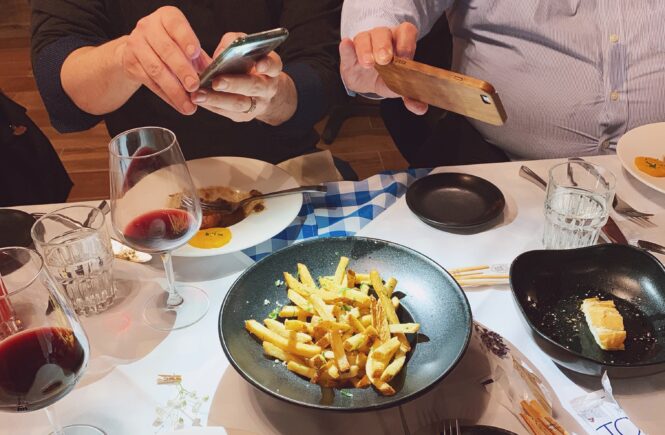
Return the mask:
M541 348L578 373L615 377L665 370L665 268L627 245L531 251L510 268L510 284ZM604 351L595 342L582 300L613 299L623 316L626 349Z

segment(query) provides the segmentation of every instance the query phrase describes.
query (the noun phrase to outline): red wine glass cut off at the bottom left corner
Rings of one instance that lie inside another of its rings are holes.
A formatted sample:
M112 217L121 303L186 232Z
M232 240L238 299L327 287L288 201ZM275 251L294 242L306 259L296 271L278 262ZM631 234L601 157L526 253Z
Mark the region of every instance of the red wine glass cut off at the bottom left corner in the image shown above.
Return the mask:
M55 435L103 435L94 426L61 427L49 408L76 386L89 355L78 317L41 255L0 249L0 411L45 409Z

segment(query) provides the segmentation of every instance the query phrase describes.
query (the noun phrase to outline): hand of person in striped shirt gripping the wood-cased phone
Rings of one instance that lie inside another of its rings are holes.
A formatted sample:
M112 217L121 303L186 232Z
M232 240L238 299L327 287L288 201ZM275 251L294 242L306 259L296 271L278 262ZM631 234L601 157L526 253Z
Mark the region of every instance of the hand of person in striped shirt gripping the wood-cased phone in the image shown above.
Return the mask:
M358 33L353 41L345 38L339 44L340 73L344 84L352 91L373 93L382 97L400 97L390 89L374 69L374 64L387 65L393 56L413 59L416 52L418 29L411 23L397 27L376 27ZM422 115L427 104L403 97L411 112Z

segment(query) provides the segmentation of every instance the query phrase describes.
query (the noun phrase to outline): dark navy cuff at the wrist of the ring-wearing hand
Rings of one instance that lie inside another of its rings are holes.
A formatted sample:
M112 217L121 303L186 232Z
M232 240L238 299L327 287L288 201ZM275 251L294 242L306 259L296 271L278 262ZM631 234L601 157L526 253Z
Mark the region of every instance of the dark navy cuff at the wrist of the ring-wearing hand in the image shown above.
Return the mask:
M321 76L307 63L285 65L284 72L296 86L298 105L293 116L280 127L312 128L323 118L330 104Z

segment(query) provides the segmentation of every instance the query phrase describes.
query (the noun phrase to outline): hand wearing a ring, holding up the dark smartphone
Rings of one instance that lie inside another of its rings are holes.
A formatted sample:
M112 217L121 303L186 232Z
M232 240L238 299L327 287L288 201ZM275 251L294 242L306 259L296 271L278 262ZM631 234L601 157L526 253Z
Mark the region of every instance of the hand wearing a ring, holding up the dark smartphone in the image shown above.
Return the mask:
M222 37L213 58L244 33ZM293 116L297 94L291 78L282 72L282 59L271 51L256 60L247 74L220 74L212 81L212 90L199 89L192 102L235 122L258 119L279 125Z

